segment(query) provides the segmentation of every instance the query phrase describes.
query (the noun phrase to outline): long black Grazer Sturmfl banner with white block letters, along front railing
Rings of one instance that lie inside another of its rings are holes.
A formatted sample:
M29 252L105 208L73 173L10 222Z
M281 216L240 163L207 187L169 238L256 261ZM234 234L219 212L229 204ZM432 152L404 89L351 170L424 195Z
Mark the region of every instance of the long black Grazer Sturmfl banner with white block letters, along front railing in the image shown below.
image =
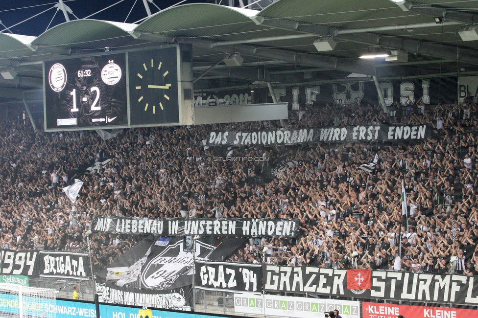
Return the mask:
M263 265L268 292L478 304L478 279L473 276L372 271L371 289L349 290L346 275L345 270Z

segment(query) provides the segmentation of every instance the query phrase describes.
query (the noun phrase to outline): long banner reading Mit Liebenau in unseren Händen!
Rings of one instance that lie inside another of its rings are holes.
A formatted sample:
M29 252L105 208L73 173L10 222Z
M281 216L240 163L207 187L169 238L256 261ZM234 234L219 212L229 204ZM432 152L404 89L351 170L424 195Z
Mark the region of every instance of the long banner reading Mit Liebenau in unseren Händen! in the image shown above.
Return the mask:
M93 230L157 236L299 237L298 219L148 219L98 217Z

